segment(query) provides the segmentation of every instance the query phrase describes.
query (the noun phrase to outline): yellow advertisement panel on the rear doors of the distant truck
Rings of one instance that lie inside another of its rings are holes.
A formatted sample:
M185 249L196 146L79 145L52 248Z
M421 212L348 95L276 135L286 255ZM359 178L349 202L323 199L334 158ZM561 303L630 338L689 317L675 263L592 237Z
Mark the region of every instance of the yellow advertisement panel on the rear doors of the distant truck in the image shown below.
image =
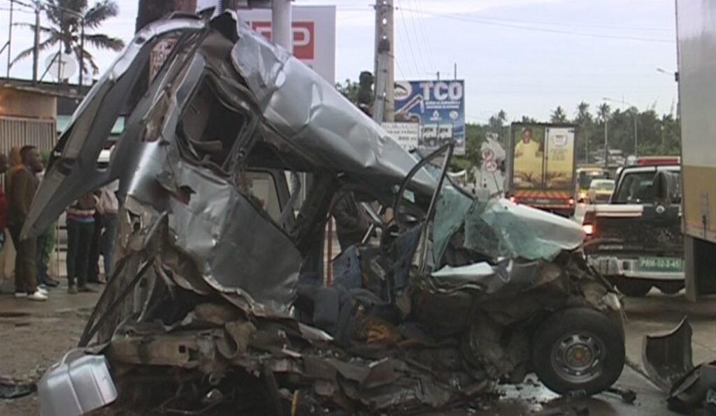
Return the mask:
M572 188L574 132L571 126L513 125L514 188Z

